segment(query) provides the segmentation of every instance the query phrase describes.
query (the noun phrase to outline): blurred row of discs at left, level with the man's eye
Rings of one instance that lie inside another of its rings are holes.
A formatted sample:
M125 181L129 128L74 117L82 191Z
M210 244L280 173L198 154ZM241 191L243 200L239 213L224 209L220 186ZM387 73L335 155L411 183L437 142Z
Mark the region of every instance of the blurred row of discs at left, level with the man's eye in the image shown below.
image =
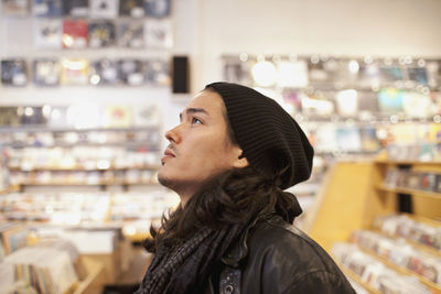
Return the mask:
M160 112L154 106L101 106L94 104L84 104L72 105L68 107L51 107L47 105L43 107L0 107L0 126L23 127L23 132L19 132L18 135L22 135L24 132L26 132L26 130L24 130L25 127L41 127L41 129L39 130L43 133L45 131L43 129L44 127L49 128L46 130L49 132L52 132L52 129L55 129L55 131L57 129L65 129L65 132L68 133L65 135L65 138L61 139L61 141L64 141L64 144L66 145L82 143L85 140L89 141L89 139L87 139L86 134L84 133L84 131L87 131L87 129L99 129L99 131L101 132L99 140L104 140L100 142L106 143L108 135L103 139L103 132L106 132L107 129L110 129L109 131L112 131L111 129L118 130L121 128L133 127L150 128L160 126ZM158 129L153 130L153 132L151 133L148 132L148 130L146 129L143 131L152 143L158 142ZM140 135L137 137L142 138ZM47 135L45 134L41 134L34 141L32 141L32 139L23 140L26 140L26 142L34 142L35 145L52 144L51 138L47 138ZM20 143L20 141L23 142L23 140L19 138L11 138L11 141L9 142ZM115 141L112 142L115 143Z

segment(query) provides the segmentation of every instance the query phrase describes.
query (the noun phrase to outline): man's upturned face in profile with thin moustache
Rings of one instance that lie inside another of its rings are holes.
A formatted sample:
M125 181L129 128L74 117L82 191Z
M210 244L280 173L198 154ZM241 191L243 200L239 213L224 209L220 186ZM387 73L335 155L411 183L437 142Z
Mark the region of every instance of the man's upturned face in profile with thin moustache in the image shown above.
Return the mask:
M211 176L248 165L240 157L240 148L227 137L225 112L218 94L202 91L181 112L181 123L165 133L170 145L161 159L158 179L180 194L182 200Z

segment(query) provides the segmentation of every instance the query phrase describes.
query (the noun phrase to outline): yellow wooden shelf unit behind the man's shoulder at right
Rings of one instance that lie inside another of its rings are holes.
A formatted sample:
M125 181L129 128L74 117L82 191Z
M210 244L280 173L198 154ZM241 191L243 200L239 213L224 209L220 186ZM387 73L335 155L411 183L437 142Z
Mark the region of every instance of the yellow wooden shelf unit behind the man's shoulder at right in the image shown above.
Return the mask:
M324 178L315 204L305 218L303 229L330 252L334 242L347 241L354 230L373 229L375 217L401 213L399 197L402 195L410 198L410 217L432 226L440 226L441 194L415 188L387 187L384 182L389 168L441 174L440 162L336 162ZM435 249L407 241L428 253L440 255ZM438 284L418 276L408 269L399 268L385 258L379 257L379 260L398 272L417 276L433 293L441 294ZM354 273L349 272L348 275ZM376 293L368 287L366 290Z

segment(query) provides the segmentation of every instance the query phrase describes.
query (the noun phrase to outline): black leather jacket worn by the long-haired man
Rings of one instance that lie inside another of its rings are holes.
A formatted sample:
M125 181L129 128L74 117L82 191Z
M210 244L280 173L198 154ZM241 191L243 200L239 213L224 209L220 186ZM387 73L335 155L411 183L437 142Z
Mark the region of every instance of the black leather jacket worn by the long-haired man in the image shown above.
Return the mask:
M222 261L205 293L355 293L331 257L277 215L246 232Z

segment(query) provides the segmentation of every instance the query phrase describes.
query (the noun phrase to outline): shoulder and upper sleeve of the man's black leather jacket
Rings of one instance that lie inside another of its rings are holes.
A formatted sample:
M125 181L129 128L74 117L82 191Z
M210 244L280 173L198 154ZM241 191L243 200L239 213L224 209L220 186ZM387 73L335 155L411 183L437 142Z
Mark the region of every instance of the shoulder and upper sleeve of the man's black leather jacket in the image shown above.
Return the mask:
M256 226L250 232L248 248L243 271L244 293L286 293L305 281L315 281L316 284L334 281L352 290L332 258L314 240L279 216Z

